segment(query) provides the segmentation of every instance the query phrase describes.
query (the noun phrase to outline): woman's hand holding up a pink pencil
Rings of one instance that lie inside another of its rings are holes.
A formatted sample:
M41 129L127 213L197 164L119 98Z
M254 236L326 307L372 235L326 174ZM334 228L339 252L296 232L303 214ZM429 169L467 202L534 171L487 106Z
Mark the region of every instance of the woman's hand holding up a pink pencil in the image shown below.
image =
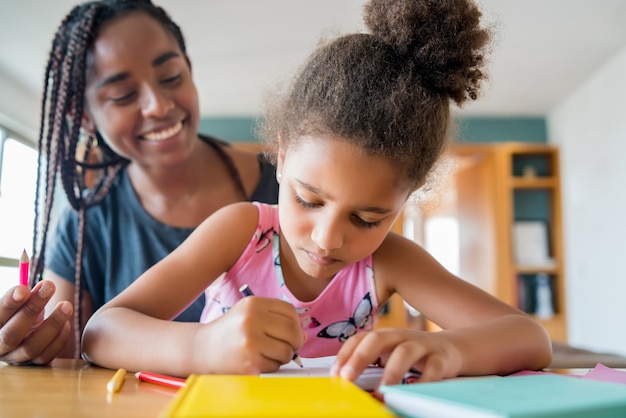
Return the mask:
M55 292L50 281L31 291L15 286L0 298L0 360L10 364L47 364L70 336L72 304L60 302L44 320L44 307Z

